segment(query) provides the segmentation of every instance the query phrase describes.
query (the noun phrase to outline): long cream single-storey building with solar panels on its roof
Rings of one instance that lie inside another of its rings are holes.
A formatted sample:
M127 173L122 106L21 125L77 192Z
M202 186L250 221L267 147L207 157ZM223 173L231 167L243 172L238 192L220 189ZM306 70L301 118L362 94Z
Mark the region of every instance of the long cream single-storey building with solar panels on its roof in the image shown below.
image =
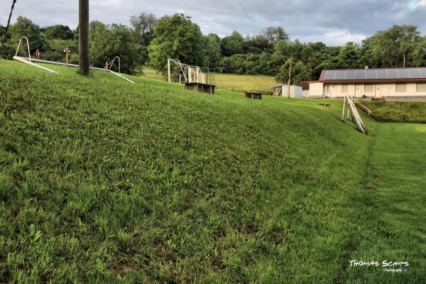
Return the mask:
M426 67L322 70L320 80L302 82L309 97L423 98Z

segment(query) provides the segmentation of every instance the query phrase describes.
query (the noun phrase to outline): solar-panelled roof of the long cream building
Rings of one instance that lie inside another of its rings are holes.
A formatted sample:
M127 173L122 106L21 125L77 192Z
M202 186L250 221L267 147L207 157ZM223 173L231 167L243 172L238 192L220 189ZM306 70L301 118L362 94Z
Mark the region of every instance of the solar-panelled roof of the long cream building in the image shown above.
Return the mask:
M426 79L426 68L324 70L322 80Z

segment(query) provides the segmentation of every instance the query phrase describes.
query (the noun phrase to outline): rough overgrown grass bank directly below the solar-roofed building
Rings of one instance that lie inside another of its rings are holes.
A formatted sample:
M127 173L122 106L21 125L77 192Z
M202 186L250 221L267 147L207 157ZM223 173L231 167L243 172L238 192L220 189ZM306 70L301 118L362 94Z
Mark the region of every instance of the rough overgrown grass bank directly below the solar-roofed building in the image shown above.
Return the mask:
M425 102L362 102L381 121L426 124Z

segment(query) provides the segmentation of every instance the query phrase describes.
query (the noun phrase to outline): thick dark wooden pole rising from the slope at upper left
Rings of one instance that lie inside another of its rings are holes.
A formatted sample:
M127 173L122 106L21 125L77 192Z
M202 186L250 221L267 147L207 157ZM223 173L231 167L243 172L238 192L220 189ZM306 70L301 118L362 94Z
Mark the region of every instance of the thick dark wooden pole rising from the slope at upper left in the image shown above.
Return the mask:
M79 0L80 73L89 75L89 0Z

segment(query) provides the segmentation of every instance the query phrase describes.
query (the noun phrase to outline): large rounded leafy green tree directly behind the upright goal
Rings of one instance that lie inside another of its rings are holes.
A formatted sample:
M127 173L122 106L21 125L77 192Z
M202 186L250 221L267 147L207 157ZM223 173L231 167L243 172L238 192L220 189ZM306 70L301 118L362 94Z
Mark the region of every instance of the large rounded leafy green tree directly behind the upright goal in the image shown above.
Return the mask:
M183 14L164 16L154 27L154 38L148 46L149 64L165 75L168 58L188 65L202 65L205 58L200 26Z

